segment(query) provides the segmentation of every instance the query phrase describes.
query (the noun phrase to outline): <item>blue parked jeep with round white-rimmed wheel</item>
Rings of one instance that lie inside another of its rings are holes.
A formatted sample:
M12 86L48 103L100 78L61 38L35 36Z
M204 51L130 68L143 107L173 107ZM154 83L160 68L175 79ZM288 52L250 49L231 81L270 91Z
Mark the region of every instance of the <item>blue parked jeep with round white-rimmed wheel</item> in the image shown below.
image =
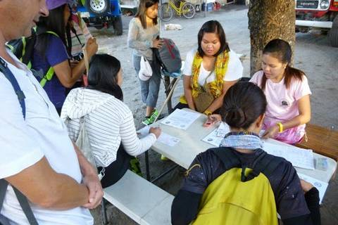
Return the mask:
M97 29L113 27L116 35L122 35L122 13L118 0L79 0L77 11L87 26Z

